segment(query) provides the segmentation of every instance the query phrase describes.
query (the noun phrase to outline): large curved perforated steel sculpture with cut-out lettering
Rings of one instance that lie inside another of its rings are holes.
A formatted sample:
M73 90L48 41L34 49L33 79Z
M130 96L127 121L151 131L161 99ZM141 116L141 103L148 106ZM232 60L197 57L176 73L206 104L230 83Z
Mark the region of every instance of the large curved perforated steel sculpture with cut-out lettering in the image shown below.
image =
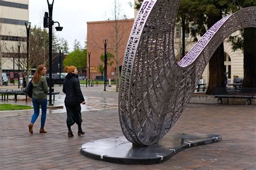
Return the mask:
M119 91L119 119L127 140L158 142L176 123L215 49L231 33L256 27L256 7L227 16L176 62L174 24L180 1L145 0L127 43Z

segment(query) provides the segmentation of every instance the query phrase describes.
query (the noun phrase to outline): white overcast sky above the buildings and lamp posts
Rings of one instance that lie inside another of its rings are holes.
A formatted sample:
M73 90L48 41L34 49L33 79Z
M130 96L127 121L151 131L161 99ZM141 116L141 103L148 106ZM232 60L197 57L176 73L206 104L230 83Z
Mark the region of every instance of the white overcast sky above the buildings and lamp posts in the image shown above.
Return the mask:
M119 0L120 9L127 18L134 18L134 10L129 2L133 0ZM52 3L52 0L49 0ZM84 46L87 34L86 22L113 19L113 0L55 0L53 3L52 19L63 26L63 30L56 32L69 43L70 51L75 39ZM29 1L29 22L43 27L44 12L48 11L46 0ZM58 24L55 24L57 26Z

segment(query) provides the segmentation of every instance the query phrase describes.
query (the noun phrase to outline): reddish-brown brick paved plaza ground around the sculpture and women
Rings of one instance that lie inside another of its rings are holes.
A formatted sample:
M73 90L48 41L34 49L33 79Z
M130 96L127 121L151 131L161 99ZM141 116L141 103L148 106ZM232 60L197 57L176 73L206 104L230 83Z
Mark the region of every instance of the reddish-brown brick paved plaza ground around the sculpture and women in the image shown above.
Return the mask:
M62 87L56 87L60 91ZM98 109L82 112L84 136L68 138L66 114L63 109L50 111L46 118L48 133L39 133L40 119L34 134L28 132L32 110L0 111L0 168L1 169L256 169L256 106L188 104L187 108L161 139L165 143L171 133L217 133L222 141L181 151L157 165L119 165L86 158L79 147L90 140L122 136L118 120L118 94L114 87L82 87L84 96L96 100ZM59 95L56 104L62 104ZM94 97L94 98L93 98ZM97 100L98 99L98 100ZM89 100L89 99L88 99ZM101 102L100 102L101 101ZM112 107L104 107L111 101ZM18 103L25 103L19 101ZM2 101L2 103L4 103ZM5 102L6 103L6 102ZM14 103L14 101L8 101ZM87 101L93 108L93 101ZM100 103L102 107L100 107ZM28 103L30 104L30 103ZM117 103L116 103L117 104ZM82 106L85 107L85 106Z

